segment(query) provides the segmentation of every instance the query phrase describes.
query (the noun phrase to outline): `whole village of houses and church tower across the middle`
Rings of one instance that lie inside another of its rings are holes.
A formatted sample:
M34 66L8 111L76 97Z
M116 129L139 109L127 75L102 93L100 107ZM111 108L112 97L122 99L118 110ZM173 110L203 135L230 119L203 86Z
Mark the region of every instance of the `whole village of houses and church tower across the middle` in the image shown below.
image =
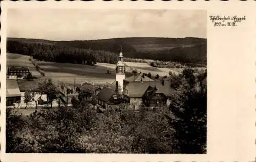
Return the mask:
M170 98L174 93L174 89L170 87L170 81L164 77L161 80L152 79L147 77L145 73L137 71L134 71L133 76L126 77L122 47L115 71L116 77L112 83L94 84L84 79L78 86L75 84L68 86L65 83L57 82L55 86L58 94L52 101L52 107L62 104L71 106L72 98L78 99L81 93L89 93L89 98L96 97L96 105L101 110L120 109L120 107L131 110L157 109L169 106ZM8 67L7 106L22 109L35 107L36 104L41 107L49 106L49 96L37 92L38 82L27 81L28 75L31 75L28 67ZM30 96L33 96L30 101L26 101L25 92L30 92ZM37 103L35 104L35 102Z

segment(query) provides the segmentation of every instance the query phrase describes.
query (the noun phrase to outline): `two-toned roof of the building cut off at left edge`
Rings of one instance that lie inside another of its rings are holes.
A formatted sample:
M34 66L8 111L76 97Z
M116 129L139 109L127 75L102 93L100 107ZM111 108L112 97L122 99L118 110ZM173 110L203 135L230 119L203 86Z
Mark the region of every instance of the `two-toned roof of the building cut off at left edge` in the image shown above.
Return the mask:
M16 80L6 80L6 97L19 97L21 96L19 87Z

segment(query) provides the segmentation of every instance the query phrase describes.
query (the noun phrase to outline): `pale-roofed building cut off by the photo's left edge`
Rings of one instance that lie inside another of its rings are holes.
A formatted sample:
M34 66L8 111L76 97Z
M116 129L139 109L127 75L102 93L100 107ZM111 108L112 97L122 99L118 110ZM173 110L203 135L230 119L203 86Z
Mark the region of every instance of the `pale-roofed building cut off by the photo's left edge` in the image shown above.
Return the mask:
M21 100L21 93L16 80L6 80L6 106L13 106Z

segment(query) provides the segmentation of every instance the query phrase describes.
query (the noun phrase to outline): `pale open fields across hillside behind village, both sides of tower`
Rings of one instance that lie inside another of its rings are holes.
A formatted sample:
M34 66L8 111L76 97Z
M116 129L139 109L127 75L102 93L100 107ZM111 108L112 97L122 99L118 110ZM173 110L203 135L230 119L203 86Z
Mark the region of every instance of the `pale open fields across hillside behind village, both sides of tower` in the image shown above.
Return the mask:
M55 63L37 61L39 67L45 71L46 77L52 78L54 82L66 82L69 86L73 86L74 83L79 85L84 82L91 82L96 85L102 85L105 83L113 83L115 80L115 64L109 63L97 63L95 66L81 65L81 64L69 64L69 63ZM29 61L29 56L18 55L14 53L7 53L7 65L8 66L24 66L29 67L32 75L37 78L42 77L35 69L35 67ZM159 74L160 76L169 75L169 71L179 74L181 68L156 68L147 63L134 63L125 62L126 77L132 76L132 71L137 69L138 72L151 73L154 77ZM108 74L107 70L111 71ZM199 68L202 69L202 68ZM205 68L203 68L205 69Z

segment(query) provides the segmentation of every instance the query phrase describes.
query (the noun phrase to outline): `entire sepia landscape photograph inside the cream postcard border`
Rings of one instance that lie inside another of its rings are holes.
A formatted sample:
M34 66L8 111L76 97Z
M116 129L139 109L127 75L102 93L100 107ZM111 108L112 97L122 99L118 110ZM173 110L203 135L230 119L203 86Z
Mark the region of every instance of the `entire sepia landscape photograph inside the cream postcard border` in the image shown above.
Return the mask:
M207 19L8 9L6 153L206 154Z

